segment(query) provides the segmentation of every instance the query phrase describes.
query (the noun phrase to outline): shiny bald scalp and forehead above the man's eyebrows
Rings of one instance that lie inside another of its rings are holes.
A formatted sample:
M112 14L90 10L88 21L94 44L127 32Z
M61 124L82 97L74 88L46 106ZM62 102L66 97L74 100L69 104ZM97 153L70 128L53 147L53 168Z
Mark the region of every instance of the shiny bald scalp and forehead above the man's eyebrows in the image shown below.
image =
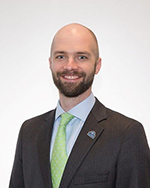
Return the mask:
M51 57L53 55L54 49L59 48L62 42L64 44L66 43L66 45L67 42L70 42L70 44L73 43L73 46L81 45L82 48L82 41L84 44L87 43L87 45L91 47L97 60L99 58L99 49L95 34L89 28L76 23L66 25L56 33L51 45Z

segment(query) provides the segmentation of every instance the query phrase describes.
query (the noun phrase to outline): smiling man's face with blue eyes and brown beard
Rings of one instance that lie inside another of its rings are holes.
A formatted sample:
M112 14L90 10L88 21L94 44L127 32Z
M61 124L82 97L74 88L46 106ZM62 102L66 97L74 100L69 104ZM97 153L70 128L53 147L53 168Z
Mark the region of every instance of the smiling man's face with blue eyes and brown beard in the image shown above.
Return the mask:
M77 97L91 90L100 69L89 34L59 34L51 51L50 68L56 87L66 97Z

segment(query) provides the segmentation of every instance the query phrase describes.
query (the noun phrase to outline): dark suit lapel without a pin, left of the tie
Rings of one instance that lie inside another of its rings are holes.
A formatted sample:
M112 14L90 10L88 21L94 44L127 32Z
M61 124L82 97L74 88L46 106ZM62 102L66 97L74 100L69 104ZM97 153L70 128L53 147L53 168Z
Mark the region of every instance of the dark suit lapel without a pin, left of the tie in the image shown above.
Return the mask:
M51 111L41 126L41 132L38 138L38 155L41 173L45 188L52 188L50 174L50 140L54 123L55 111Z

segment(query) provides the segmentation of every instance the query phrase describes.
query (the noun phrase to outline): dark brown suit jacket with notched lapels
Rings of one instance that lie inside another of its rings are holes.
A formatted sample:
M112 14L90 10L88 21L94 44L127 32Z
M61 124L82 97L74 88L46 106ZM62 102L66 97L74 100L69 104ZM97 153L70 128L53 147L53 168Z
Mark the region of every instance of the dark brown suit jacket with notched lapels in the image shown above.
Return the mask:
M21 127L9 188L52 188L55 110ZM87 136L95 131L94 139ZM72 149L60 188L150 188L150 150L142 125L98 100Z

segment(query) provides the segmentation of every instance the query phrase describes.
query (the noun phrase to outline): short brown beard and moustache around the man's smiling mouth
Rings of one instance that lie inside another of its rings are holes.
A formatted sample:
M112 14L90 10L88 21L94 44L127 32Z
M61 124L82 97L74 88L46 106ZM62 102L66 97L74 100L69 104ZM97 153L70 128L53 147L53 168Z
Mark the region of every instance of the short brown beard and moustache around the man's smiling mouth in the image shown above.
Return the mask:
M77 97L87 91L94 80L94 75L95 75L95 68L94 70L87 76L85 72L77 72L77 71L64 71L64 72L58 72L56 75L52 71L52 77L55 86L58 88L60 93L62 93L66 97ZM72 82L62 82L60 77L64 75L71 75L71 76L79 76L83 78L83 80L80 83L72 83Z

